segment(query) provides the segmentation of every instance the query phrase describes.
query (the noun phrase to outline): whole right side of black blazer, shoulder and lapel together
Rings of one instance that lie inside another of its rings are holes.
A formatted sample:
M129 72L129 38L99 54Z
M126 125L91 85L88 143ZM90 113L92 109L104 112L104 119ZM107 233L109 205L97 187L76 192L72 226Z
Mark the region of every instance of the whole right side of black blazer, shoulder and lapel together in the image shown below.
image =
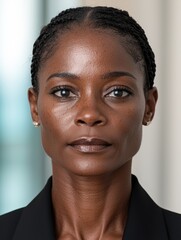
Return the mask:
M147 240L178 240L181 239L181 215L158 206L141 187L137 178L132 176L126 228L128 239L139 236L139 239Z

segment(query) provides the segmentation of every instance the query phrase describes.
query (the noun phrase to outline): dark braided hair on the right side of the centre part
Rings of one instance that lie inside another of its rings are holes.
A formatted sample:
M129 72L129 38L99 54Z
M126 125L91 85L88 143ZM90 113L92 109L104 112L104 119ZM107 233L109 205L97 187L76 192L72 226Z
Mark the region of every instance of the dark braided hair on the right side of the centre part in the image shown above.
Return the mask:
M96 10L97 11L92 12L95 27L112 29L120 36L125 37L126 44L124 44L124 47L127 48L136 61L140 60L139 53L142 55L146 74L145 87L146 89L151 89L154 85L156 73L155 55L149 45L144 30L129 16L127 11L111 7L104 8L105 11L102 7L97 7Z

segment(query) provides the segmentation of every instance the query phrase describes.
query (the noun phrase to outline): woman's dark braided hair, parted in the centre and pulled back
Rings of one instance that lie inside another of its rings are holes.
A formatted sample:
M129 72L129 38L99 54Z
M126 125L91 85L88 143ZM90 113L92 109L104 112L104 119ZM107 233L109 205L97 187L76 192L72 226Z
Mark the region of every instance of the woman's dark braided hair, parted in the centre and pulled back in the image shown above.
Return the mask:
M33 46L31 81L38 92L38 72L55 50L59 36L75 24L92 28L110 29L123 39L124 47L135 61L143 60L145 69L145 88L151 89L156 71L155 56L141 26L129 16L128 12L112 7L78 7L59 13L44 26Z

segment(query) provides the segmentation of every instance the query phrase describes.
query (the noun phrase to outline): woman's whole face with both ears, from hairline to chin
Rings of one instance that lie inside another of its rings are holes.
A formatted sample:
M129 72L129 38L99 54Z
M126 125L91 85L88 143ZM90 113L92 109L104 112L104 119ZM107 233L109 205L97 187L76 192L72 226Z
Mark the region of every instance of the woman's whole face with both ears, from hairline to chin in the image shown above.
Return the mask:
M53 167L99 175L131 161L157 96L153 89L145 99L143 86L140 63L118 35L79 27L64 33L39 71L38 96L29 90Z

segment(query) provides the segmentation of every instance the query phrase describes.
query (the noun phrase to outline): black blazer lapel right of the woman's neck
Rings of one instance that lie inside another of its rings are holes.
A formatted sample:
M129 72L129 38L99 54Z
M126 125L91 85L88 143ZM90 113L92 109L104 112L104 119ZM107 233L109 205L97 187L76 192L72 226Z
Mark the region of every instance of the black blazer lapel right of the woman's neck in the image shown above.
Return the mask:
M162 209L158 207L133 176L124 240L168 240Z

